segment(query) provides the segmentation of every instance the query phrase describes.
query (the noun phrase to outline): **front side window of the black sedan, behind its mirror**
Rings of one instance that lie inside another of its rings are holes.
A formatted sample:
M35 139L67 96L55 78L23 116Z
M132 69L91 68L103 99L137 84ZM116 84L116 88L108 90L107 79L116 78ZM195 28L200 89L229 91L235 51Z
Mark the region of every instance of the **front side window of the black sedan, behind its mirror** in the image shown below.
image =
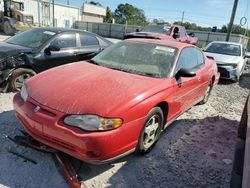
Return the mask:
M60 49L76 48L76 34L65 33L56 37L51 43L51 46L57 46Z

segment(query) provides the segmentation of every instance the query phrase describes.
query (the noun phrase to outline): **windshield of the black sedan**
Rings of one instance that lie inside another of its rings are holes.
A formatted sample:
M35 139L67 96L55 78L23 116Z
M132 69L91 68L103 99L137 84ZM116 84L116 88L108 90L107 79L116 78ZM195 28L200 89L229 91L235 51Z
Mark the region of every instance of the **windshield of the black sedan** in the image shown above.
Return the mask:
M39 48L55 34L55 32L45 29L31 29L17 34L7 39L5 42L28 48Z

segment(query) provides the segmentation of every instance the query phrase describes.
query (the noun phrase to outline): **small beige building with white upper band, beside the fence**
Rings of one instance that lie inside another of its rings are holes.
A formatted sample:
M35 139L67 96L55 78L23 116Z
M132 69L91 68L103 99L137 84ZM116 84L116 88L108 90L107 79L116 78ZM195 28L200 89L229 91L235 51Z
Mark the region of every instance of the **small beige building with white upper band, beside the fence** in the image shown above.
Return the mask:
M102 23L105 16L106 8L88 3L83 3L82 21Z

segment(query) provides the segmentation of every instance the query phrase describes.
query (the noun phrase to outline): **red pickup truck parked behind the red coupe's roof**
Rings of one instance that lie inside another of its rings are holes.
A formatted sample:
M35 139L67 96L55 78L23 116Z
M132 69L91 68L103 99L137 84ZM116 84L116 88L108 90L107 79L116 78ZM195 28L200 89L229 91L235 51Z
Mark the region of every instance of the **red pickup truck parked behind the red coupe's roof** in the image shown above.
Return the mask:
M124 39L150 38L160 40L175 40L188 44L198 45L198 38L193 33L187 34L185 27L180 25L148 25L140 32L127 33Z

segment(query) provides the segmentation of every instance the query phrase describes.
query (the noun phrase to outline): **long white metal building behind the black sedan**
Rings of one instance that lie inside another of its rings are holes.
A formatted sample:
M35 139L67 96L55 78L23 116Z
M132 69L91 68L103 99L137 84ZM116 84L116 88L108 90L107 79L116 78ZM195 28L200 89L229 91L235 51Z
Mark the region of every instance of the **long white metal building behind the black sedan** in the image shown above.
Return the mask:
M24 0L24 10L33 15L34 23L43 26L70 28L81 20L81 9L71 5L51 3L49 0Z

